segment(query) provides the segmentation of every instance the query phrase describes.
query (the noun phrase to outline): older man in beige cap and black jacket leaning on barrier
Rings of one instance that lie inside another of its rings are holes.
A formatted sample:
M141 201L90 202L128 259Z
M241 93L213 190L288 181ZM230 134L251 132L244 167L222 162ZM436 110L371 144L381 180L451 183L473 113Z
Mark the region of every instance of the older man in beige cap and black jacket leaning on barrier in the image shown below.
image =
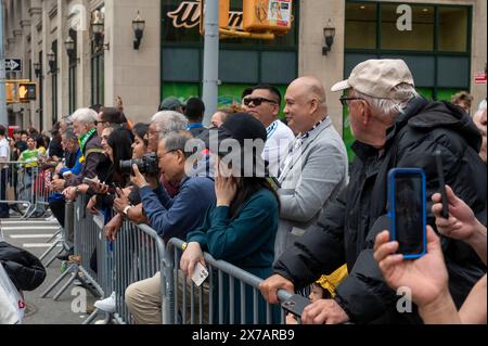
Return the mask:
M349 185L329 205L318 227L278 259L275 274L261 284L261 293L277 303L278 290L305 287L346 261L349 275L337 286L336 296L307 306L304 323L420 323L415 309L397 310L402 295L386 285L373 258L374 238L387 228L387 175L395 167L424 169L429 198L439 191L433 154L440 151L446 183L486 225L487 172L477 155L481 137L459 107L419 97L401 60L363 62L332 90L345 91L341 102L349 108L357 139ZM432 214L427 222L435 228ZM442 239L442 248L459 307L486 267L460 241Z

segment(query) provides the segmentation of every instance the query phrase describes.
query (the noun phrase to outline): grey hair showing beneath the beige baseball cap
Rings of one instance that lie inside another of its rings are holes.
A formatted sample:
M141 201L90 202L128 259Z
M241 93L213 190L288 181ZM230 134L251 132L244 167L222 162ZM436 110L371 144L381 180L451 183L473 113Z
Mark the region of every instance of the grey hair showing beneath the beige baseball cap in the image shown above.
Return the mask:
M355 93L357 98L364 99L368 102L374 116L389 120L401 113L410 100L419 98L415 88L409 84L398 85L391 91L396 95L395 99L372 98L357 90L355 90Z

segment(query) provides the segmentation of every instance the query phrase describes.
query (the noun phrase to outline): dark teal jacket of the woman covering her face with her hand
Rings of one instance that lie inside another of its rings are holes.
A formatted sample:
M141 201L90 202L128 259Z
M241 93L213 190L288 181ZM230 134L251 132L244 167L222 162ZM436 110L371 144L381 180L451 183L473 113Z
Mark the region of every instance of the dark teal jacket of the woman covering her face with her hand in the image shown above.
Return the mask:
M231 220L229 207L210 207L204 225L188 233L187 242L200 243L204 252L215 259L228 261L261 279L272 274L274 239L278 231L279 207L277 197L268 190L256 192ZM214 317L218 322L218 275L214 274ZM229 322L229 279L223 275L223 323ZM246 286L246 321L253 323L253 290ZM241 321L241 289L234 283L234 322ZM259 323L266 322L266 304L259 292ZM279 310L273 309L273 322L279 322Z

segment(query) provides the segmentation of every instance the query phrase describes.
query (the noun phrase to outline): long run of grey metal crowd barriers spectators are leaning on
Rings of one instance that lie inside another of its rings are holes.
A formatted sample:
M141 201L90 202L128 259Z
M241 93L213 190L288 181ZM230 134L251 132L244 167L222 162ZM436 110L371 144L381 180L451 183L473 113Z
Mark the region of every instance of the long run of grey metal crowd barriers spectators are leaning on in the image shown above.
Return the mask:
M73 212L69 212L73 205ZM280 313L278 307L267 304L261 297L259 284L262 279L205 253L209 278L207 283L195 287L179 270L183 241L171 239L165 246L156 231L149 226L125 221L116 242L112 244L103 234L103 217L93 217L87 213L85 197L79 197L75 203L67 202L66 206L65 230L67 232L74 228L75 254L80 255L80 260L70 264L41 297L46 297L70 274L54 295L54 300L78 279L97 297L115 293L116 309L113 316L105 313L106 322L115 320L117 323L129 323L126 289L160 271L163 324L284 323L284 311ZM97 254L97 260L93 254ZM91 268L94 264L97 268ZM283 290L278 293L280 302L291 296ZM236 297L240 297L239 304ZM90 323L101 312L104 311L95 309L84 323Z

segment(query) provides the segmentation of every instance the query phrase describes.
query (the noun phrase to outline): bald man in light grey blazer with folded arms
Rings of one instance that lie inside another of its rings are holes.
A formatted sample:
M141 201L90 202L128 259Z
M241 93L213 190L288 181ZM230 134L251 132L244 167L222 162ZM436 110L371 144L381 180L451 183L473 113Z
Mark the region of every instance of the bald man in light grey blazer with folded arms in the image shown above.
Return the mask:
M285 101L288 126L298 136L287 149L278 179L281 210L277 259L316 226L347 183L348 167L346 146L329 117L322 84L313 77L298 78L287 88Z

